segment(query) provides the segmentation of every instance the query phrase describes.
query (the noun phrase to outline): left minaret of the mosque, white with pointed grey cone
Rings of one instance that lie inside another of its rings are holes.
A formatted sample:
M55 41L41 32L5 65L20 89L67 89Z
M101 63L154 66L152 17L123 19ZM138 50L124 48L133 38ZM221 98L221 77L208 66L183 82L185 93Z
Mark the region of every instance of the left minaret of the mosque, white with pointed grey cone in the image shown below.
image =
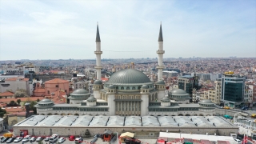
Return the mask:
M97 71L97 79L102 81L102 64L101 64L101 38L99 37L99 31L98 31L98 22L97 22L97 34L96 34L96 51L94 51L94 54L96 54L96 66L94 68Z

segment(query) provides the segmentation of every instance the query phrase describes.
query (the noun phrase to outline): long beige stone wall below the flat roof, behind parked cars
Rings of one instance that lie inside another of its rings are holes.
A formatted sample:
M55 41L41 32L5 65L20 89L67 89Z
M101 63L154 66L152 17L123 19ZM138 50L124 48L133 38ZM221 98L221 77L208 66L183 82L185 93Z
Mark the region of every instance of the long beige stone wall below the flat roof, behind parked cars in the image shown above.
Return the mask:
M158 136L159 132L168 130L169 132L179 132L186 134L212 134L216 133L218 130L220 135L229 135L230 133L237 134L238 126L232 127L54 127L54 126L14 126L14 134L18 136L20 130L28 130L28 134L36 136L49 136L50 134L58 133L61 136L69 135L81 135L83 136L86 129L90 131L90 134L94 136L95 134L102 134L105 130L111 130L113 132L118 132L119 134L123 132L133 132L135 136ZM34 131L34 132L33 132Z

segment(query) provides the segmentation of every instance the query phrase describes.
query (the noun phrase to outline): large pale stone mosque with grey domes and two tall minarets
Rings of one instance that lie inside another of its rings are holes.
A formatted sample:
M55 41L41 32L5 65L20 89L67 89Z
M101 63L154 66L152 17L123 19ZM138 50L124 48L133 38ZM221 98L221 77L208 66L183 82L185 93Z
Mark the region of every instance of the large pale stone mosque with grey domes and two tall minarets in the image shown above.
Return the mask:
M54 104L43 99L35 106L38 115L106 115L106 116L214 116L215 106L210 100L198 104L190 103L190 95L185 90L168 92L162 80L163 50L162 25L158 37L158 82L151 82L146 74L130 69L119 70L109 81L101 79L101 39L97 26L96 66L97 80L94 81L94 94L78 89L70 94L69 104Z

